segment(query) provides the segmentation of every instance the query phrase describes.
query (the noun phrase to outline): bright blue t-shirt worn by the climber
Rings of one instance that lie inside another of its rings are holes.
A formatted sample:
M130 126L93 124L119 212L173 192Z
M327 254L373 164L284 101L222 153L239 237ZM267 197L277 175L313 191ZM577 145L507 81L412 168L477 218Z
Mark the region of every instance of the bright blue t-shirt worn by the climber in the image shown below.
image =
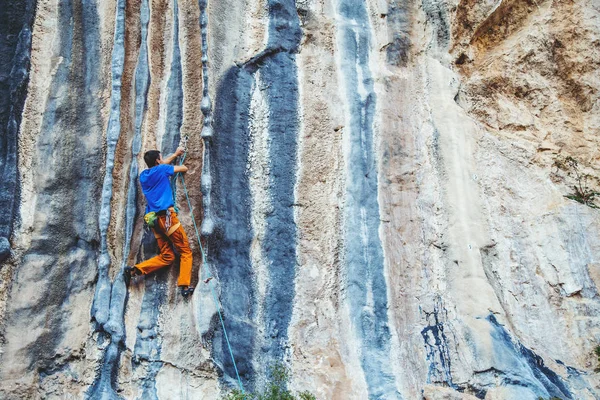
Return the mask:
M170 164L160 164L142 171L140 184L148 201L146 213L173 207L173 192L169 177L174 173L175 167Z

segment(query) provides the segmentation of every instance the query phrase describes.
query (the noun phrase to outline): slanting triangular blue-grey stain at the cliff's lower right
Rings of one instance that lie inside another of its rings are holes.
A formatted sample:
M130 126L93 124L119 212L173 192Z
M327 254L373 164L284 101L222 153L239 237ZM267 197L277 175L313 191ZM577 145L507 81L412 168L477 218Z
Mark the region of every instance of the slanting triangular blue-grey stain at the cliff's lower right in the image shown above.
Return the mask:
M495 366L494 371L495 380L500 378L502 381L501 386L527 388L543 398L573 398L563 379L548 368L540 356L513 339L493 314L488 315L486 320L492 326L492 346L496 359L501 363Z

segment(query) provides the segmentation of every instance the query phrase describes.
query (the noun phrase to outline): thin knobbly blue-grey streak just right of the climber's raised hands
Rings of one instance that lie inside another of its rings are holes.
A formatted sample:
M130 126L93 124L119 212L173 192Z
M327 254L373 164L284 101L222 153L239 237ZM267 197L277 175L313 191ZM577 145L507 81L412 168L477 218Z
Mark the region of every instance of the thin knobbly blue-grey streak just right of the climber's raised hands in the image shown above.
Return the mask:
M209 68L208 68L208 14L206 12L207 0L199 0L200 7L200 35L202 38L202 101L200 102L200 111L204 116L201 137L204 143L203 162L202 162L202 180L200 188L202 191L202 209L204 217L200 230L203 235L212 235L215 229L215 219L212 207L212 169L211 169L211 148L213 139L212 128L212 103L209 95ZM204 268L201 273L206 273Z

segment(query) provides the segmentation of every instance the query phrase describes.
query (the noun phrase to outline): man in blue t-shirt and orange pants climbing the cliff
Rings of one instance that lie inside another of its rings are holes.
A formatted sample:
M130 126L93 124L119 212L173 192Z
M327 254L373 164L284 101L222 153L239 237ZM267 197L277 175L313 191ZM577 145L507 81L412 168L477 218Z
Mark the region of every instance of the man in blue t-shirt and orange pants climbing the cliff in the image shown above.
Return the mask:
M144 154L144 161L148 165L148 169L140 174L140 184L148 202L144 220L154 232L160 254L132 267L126 267L125 277L128 280L130 277L146 275L171 265L175 261L172 245L180 255L177 286L181 288L181 294L187 297L194 292L194 287L190 285L192 250L187 235L177 219L169 180L169 177L177 172L187 172L188 169L184 165L171 165L175 158L184 152L185 150L180 147L165 159L161 158L158 150L150 150Z

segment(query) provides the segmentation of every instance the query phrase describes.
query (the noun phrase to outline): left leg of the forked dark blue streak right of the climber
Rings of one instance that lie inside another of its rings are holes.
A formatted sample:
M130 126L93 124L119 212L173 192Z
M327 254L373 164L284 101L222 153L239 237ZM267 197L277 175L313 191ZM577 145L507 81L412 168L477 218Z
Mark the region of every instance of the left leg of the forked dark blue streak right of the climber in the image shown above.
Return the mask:
M215 266L221 289L221 306L237 368L244 386L254 376L256 299L250 263L253 239L251 193L247 173L249 109L254 78L244 68L232 67L222 78L215 100L215 135L210 146L214 176L214 234L207 237L208 260ZM206 162L206 161L205 161ZM235 380L225 338L215 331L214 359L225 378Z

